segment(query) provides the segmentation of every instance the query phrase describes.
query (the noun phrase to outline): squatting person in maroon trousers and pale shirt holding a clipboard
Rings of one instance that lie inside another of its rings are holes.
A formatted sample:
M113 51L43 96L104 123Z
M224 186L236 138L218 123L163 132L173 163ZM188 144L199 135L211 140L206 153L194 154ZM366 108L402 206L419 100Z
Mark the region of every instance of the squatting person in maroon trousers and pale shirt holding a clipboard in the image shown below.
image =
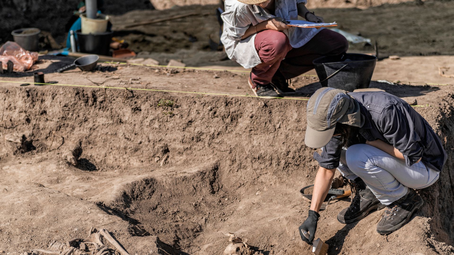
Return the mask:
M312 61L320 56L347 51L348 42L339 33L285 24L285 20L297 20L298 15L323 22L306 9L306 1L225 0L221 42L230 59L252 68L249 86L255 95L295 93L287 79L313 69Z

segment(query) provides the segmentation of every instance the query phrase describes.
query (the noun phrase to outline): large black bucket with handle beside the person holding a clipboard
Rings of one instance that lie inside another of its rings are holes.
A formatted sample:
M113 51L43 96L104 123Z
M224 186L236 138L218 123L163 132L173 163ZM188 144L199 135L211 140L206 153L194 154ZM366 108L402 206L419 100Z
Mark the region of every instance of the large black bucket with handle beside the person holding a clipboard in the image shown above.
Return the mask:
M369 88L377 57L348 53L340 56L323 56L313 64L323 87L353 91Z

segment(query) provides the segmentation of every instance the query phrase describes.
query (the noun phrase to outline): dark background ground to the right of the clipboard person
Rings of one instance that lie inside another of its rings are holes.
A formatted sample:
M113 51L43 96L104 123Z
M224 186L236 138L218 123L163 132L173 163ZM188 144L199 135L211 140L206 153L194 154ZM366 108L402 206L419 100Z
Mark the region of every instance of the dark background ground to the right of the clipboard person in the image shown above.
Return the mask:
M377 41L382 57L452 55L454 26L453 1L418 1L384 4L366 10L317 9L326 21L337 21L336 28ZM443 24L443 25L439 25ZM350 50L374 51L373 46L350 44Z

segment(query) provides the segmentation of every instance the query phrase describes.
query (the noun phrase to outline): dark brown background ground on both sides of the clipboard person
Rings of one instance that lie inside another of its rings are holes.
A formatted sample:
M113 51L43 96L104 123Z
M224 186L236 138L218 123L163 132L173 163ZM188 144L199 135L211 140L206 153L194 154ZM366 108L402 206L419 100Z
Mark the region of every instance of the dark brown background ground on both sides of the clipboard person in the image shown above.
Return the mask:
M326 1L323 1L326 2ZM336 21L336 28L370 38L372 45L350 44L350 52L374 53L377 42L380 58L389 55L452 55L454 26L452 1L428 0L424 3L384 4L366 10L311 9L326 21ZM325 6L328 7L328 6ZM178 59L188 66L238 65L223 51L211 51L212 42L219 42L220 26L215 15L217 5L175 6L169 10L133 10L111 17L115 36L129 42L139 57L153 58L161 64ZM168 18L200 11L181 19L151 25L131 24ZM153 17L153 18L150 18ZM439 24L444 24L440 26ZM410 43L411 42L411 43ZM215 45L216 46L216 45ZM440 66L440 65L439 65Z

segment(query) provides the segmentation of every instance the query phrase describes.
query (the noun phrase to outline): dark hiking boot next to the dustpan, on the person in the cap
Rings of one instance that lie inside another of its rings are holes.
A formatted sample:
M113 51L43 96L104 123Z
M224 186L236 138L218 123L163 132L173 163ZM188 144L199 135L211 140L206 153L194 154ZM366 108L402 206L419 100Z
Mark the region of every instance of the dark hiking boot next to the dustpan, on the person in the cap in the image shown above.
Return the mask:
M374 193L366 187L360 177L355 181L347 181L351 186L353 196L349 207L342 210L337 215L337 220L342 224L359 221L369 214L372 210L380 210L385 205L375 197Z

